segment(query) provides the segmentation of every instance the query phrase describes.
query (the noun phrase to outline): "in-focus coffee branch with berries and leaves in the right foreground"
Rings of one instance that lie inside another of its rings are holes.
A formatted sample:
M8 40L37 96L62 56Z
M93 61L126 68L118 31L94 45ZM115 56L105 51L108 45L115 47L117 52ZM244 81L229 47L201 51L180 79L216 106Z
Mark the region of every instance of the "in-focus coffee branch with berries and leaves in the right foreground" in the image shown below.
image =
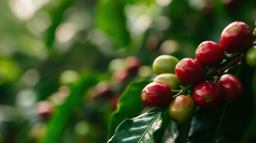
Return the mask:
M255 67L255 36L248 24L235 21L224 28L220 44L200 43L195 59L157 57L155 78L131 83L119 99L108 142L242 141L252 110L244 104L252 94L244 81L251 78L246 69ZM139 102L146 107L127 107ZM140 115L120 120L126 112Z

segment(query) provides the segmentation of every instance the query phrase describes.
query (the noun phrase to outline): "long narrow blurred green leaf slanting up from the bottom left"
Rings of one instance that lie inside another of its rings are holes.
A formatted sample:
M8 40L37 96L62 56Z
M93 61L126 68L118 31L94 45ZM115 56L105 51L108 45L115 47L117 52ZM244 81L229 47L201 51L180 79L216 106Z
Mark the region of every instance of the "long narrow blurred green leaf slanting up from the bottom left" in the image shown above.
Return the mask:
M59 142L61 135L69 125L72 119L73 111L82 105L82 98L84 91L90 86L95 85L97 79L91 74L81 79L78 85L72 87L69 96L66 101L61 104L54 116L51 118L47 125L47 132L39 142Z

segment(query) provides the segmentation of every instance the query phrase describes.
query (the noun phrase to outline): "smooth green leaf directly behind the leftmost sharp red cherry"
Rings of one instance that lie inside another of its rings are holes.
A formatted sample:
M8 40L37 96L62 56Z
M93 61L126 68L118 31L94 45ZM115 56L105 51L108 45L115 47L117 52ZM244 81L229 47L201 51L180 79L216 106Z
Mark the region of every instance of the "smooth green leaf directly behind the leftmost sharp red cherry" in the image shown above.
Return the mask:
M128 118L133 118L141 113L145 105L141 102L140 94L142 89L150 81L131 82L121 95L118 101L118 107L110 116L109 138L114 135L118 125Z

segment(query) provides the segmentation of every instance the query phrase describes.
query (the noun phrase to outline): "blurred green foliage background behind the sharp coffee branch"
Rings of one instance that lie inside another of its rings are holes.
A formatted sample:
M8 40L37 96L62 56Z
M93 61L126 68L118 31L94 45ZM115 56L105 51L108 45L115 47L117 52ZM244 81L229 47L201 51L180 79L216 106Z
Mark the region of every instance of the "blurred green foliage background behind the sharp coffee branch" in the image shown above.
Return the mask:
M116 99L131 80L155 76L156 57L195 58L233 21L254 28L255 5L0 1L0 142L106 142Z

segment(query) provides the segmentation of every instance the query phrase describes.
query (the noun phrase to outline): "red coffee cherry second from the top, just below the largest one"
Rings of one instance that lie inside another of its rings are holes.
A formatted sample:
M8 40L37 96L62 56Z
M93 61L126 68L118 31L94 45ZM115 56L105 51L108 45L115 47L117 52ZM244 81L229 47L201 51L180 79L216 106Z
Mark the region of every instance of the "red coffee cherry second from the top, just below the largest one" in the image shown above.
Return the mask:
M224 49L212 41L202 42L196 49L196 60L209 67L218 66L224 59Z

